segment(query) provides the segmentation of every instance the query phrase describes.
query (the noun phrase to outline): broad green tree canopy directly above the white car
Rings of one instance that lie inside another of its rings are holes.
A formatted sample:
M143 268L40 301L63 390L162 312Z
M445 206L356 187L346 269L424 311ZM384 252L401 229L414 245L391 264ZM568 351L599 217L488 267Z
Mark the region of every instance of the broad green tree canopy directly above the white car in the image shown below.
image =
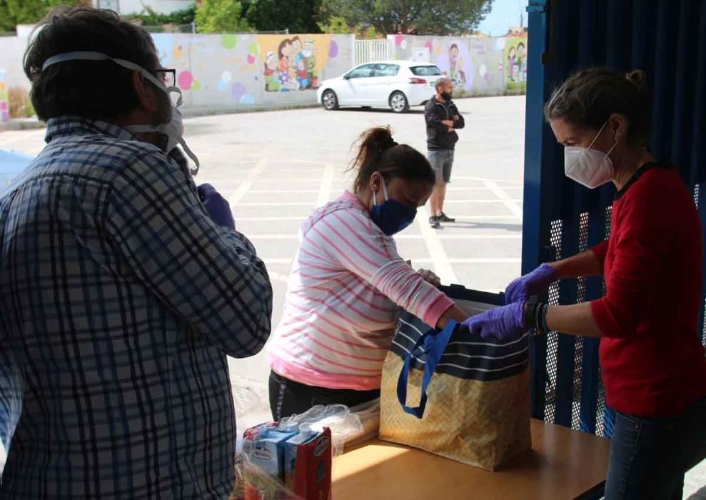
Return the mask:
M373 26L388 34L449 35L473 32L493 0L323 0L324 19Z

